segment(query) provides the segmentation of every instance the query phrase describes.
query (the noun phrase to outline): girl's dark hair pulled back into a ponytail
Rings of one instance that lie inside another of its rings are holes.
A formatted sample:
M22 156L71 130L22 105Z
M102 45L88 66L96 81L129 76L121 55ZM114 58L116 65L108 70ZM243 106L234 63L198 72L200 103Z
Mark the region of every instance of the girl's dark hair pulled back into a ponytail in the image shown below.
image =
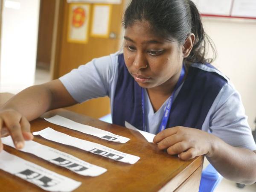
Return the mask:
M125 29L138 21L148 21L152 31L169 41L184 44L190 33L195 42L187 63L211 63L215 59L215 48L204 32L201 16L191 0L131 0L125 11ZM206 59L207 46L212 48L213 58Z

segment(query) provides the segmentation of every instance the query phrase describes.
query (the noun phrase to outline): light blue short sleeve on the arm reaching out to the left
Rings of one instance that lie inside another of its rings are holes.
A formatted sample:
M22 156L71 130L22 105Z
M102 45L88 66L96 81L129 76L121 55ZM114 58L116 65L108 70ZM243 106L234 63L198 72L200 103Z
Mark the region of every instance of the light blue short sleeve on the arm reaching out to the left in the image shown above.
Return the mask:
M96 58L60 77L70 95L79 103L109 96L117 67L116 54Z

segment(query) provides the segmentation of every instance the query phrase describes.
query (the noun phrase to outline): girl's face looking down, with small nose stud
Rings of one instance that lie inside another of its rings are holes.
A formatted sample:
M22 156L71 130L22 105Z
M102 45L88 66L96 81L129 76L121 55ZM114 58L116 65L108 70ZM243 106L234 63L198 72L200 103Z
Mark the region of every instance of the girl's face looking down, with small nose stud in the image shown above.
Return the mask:
M170 89L182 68L182 46L154 35L148 22L125 29L124 58L128 71L143 88Z

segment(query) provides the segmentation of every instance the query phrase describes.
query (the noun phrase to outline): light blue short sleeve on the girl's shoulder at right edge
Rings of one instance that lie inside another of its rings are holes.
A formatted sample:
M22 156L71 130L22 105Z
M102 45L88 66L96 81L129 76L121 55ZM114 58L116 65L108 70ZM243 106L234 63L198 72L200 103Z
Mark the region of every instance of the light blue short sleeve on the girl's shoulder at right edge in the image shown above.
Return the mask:
M210 110L206 124L212 134L232 146L256 150L241 97L232 84L224 85Z

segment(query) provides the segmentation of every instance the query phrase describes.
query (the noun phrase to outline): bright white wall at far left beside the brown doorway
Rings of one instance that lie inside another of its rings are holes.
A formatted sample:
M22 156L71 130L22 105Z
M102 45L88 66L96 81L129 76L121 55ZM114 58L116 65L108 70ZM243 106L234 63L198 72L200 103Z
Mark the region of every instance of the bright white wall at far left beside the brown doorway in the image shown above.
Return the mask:
M34 84L40 0L4 0L0 92L17 93Z

